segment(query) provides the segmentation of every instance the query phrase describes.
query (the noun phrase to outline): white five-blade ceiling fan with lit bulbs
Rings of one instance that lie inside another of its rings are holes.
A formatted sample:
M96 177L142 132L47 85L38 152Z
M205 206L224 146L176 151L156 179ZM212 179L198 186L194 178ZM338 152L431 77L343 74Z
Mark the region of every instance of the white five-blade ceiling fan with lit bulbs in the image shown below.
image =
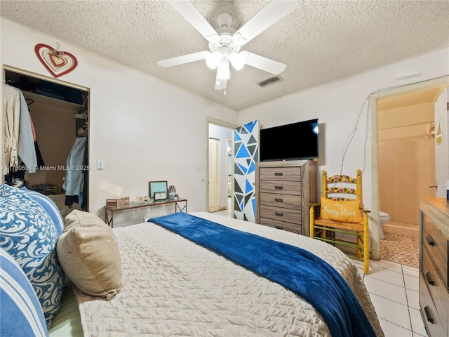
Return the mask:
M158 65L161 67L173 67L206 60L206 65L210 69L217 70L215 90L226 89L227 80L230 78L229 64L236 70L241 70L244 65L250 65L275 75L286 70L287 66L281 62L248 51L240 51L240 49L241 46L293 11L299 1L272 0L239 30L231 27L232 15L225 11L217 16L218 27L214 29L189 0L168 2L209 41L209 51L199 51L160 60Z

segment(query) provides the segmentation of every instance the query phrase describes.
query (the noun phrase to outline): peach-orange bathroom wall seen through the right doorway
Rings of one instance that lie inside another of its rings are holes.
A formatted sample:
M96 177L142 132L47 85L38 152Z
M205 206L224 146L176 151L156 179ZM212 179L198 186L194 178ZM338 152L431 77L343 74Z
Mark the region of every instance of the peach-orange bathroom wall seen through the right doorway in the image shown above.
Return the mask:
M435 193L429 188L435 179L434 138L425 137L434 104L380 110L378 121L380 210L391 222L417 225L420 198Z

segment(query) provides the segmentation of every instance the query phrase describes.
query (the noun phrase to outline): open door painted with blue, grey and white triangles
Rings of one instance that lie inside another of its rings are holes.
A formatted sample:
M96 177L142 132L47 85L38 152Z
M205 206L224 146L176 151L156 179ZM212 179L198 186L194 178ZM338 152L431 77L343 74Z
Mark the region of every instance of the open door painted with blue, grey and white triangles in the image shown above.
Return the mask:
M255 163L259 161L259 121L234 129L234 218L255 223Z

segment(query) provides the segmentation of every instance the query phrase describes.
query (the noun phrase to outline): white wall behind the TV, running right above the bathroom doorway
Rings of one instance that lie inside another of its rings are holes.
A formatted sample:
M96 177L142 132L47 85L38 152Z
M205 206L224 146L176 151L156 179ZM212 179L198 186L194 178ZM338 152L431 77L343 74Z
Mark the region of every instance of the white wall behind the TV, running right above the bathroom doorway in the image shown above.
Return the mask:
M394 79L404 74L415 73L420 76L402 81ZM449 74L449 48L443 48L241 110L239 125L259 119L261 128L267 128L318 117L321 142L318 160L319 175L321 176L323 169L326 169L328 173L338 173L340 169L344 173L355 173L356 169L365 169L363 171L363 201L364 206L370 208L370 138L373 130L368 130L364 154L366 125L368 124L369 127L370 120L368 102L363 105L364 101L370 93L375 91L434 79L447 74ZM363 110L361 110L362 105ZM359 111L361 116L356 124ZM342 161L342 152L355 125L357 130ZM342 162L344 166L341 166ZM319 190L321 190L320 180Z

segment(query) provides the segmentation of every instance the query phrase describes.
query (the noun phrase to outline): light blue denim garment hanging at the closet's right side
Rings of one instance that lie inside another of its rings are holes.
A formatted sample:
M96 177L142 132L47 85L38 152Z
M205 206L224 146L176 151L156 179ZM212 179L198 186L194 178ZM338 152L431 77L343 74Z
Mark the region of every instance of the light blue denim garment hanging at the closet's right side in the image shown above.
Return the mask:
M72 206L78 202L83 192L84 181L84 155L87 148L87 137L76 138L75 143L67 157L67 167L65 171L65 180L62 188L65 190L65 205Z

